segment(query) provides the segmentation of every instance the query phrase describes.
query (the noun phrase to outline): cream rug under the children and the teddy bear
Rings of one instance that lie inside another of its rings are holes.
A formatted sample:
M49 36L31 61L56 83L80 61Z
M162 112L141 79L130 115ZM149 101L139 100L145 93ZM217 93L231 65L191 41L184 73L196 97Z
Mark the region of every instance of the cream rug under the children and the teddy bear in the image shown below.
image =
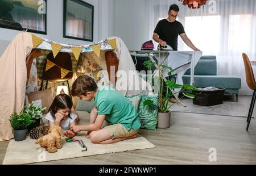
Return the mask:
M155 145L151 144L140 135L135 139L124 140L107 145L93 144L89 139L86 139L85 136L76 136L75 139L81 139L84 141L88 150L81 152L82 148L78 142L64 142L63 148L59 149L56 153L48 153L43 148L40 148L40 145L36 145L35 140L30 139L30 137L19 142L12 139L8 145L3 165L31 164L35 162L46 162L98 154L155 148ZM65 140L63 139L63 141Z

